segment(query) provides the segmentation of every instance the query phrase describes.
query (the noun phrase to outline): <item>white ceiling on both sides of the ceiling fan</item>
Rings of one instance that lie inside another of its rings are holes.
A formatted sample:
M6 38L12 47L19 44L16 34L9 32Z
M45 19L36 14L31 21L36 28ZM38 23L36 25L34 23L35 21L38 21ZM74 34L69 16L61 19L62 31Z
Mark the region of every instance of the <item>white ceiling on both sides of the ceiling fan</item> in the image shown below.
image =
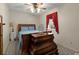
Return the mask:
M39 14L45 13L48 10L51 10L53 8L56 8L62 5L63 5L62 3L44 3L44 7L46 8L46 10L41 10ZM7 6L9 7L10 10L32 13L28 8L30 7L30 5L24 5L24 3L7 3Z

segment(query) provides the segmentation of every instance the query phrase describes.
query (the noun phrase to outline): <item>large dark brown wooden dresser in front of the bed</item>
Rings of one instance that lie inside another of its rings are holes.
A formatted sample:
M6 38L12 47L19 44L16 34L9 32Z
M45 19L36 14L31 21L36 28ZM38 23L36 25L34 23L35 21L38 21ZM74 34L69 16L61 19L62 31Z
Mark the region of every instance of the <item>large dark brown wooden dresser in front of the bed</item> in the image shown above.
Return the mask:
M31 54L34 55L57 55L58 49L54 42L53 34L32 34Z

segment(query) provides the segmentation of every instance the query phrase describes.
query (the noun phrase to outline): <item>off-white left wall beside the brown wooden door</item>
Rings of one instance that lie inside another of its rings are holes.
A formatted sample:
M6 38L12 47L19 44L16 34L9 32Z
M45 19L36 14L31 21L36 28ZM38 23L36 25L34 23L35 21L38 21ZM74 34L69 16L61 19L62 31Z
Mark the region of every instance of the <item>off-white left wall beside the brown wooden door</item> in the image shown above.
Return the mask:
M9 44L9 11L6 4L0 4L0 15L3 16L3 54Z

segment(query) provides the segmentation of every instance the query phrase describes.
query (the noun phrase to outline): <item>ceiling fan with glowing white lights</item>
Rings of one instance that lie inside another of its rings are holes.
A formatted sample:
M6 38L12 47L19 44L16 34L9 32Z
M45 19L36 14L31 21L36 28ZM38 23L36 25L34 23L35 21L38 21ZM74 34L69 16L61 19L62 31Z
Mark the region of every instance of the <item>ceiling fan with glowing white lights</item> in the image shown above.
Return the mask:
M30 8L32 13L39 13L41 10L46 10L43 3L30 3L30 4L26 3L24 5L25 6L29 5L28 8Z

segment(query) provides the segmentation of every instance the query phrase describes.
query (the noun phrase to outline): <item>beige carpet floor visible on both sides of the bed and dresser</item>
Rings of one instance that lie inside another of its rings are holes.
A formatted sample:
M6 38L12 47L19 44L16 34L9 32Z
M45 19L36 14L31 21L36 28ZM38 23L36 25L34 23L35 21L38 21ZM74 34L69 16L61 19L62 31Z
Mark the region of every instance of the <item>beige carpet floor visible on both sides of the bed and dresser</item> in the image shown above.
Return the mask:
M59 55L74 55L77 53L77 52L75 52L71 49L65 48L59 44L57 46L58 46ZM20 55L20 54L21 54L21 52L18 49L18 41L11 41L6 50L5 55ZM79 54L79 53L77 53L77 54Z

